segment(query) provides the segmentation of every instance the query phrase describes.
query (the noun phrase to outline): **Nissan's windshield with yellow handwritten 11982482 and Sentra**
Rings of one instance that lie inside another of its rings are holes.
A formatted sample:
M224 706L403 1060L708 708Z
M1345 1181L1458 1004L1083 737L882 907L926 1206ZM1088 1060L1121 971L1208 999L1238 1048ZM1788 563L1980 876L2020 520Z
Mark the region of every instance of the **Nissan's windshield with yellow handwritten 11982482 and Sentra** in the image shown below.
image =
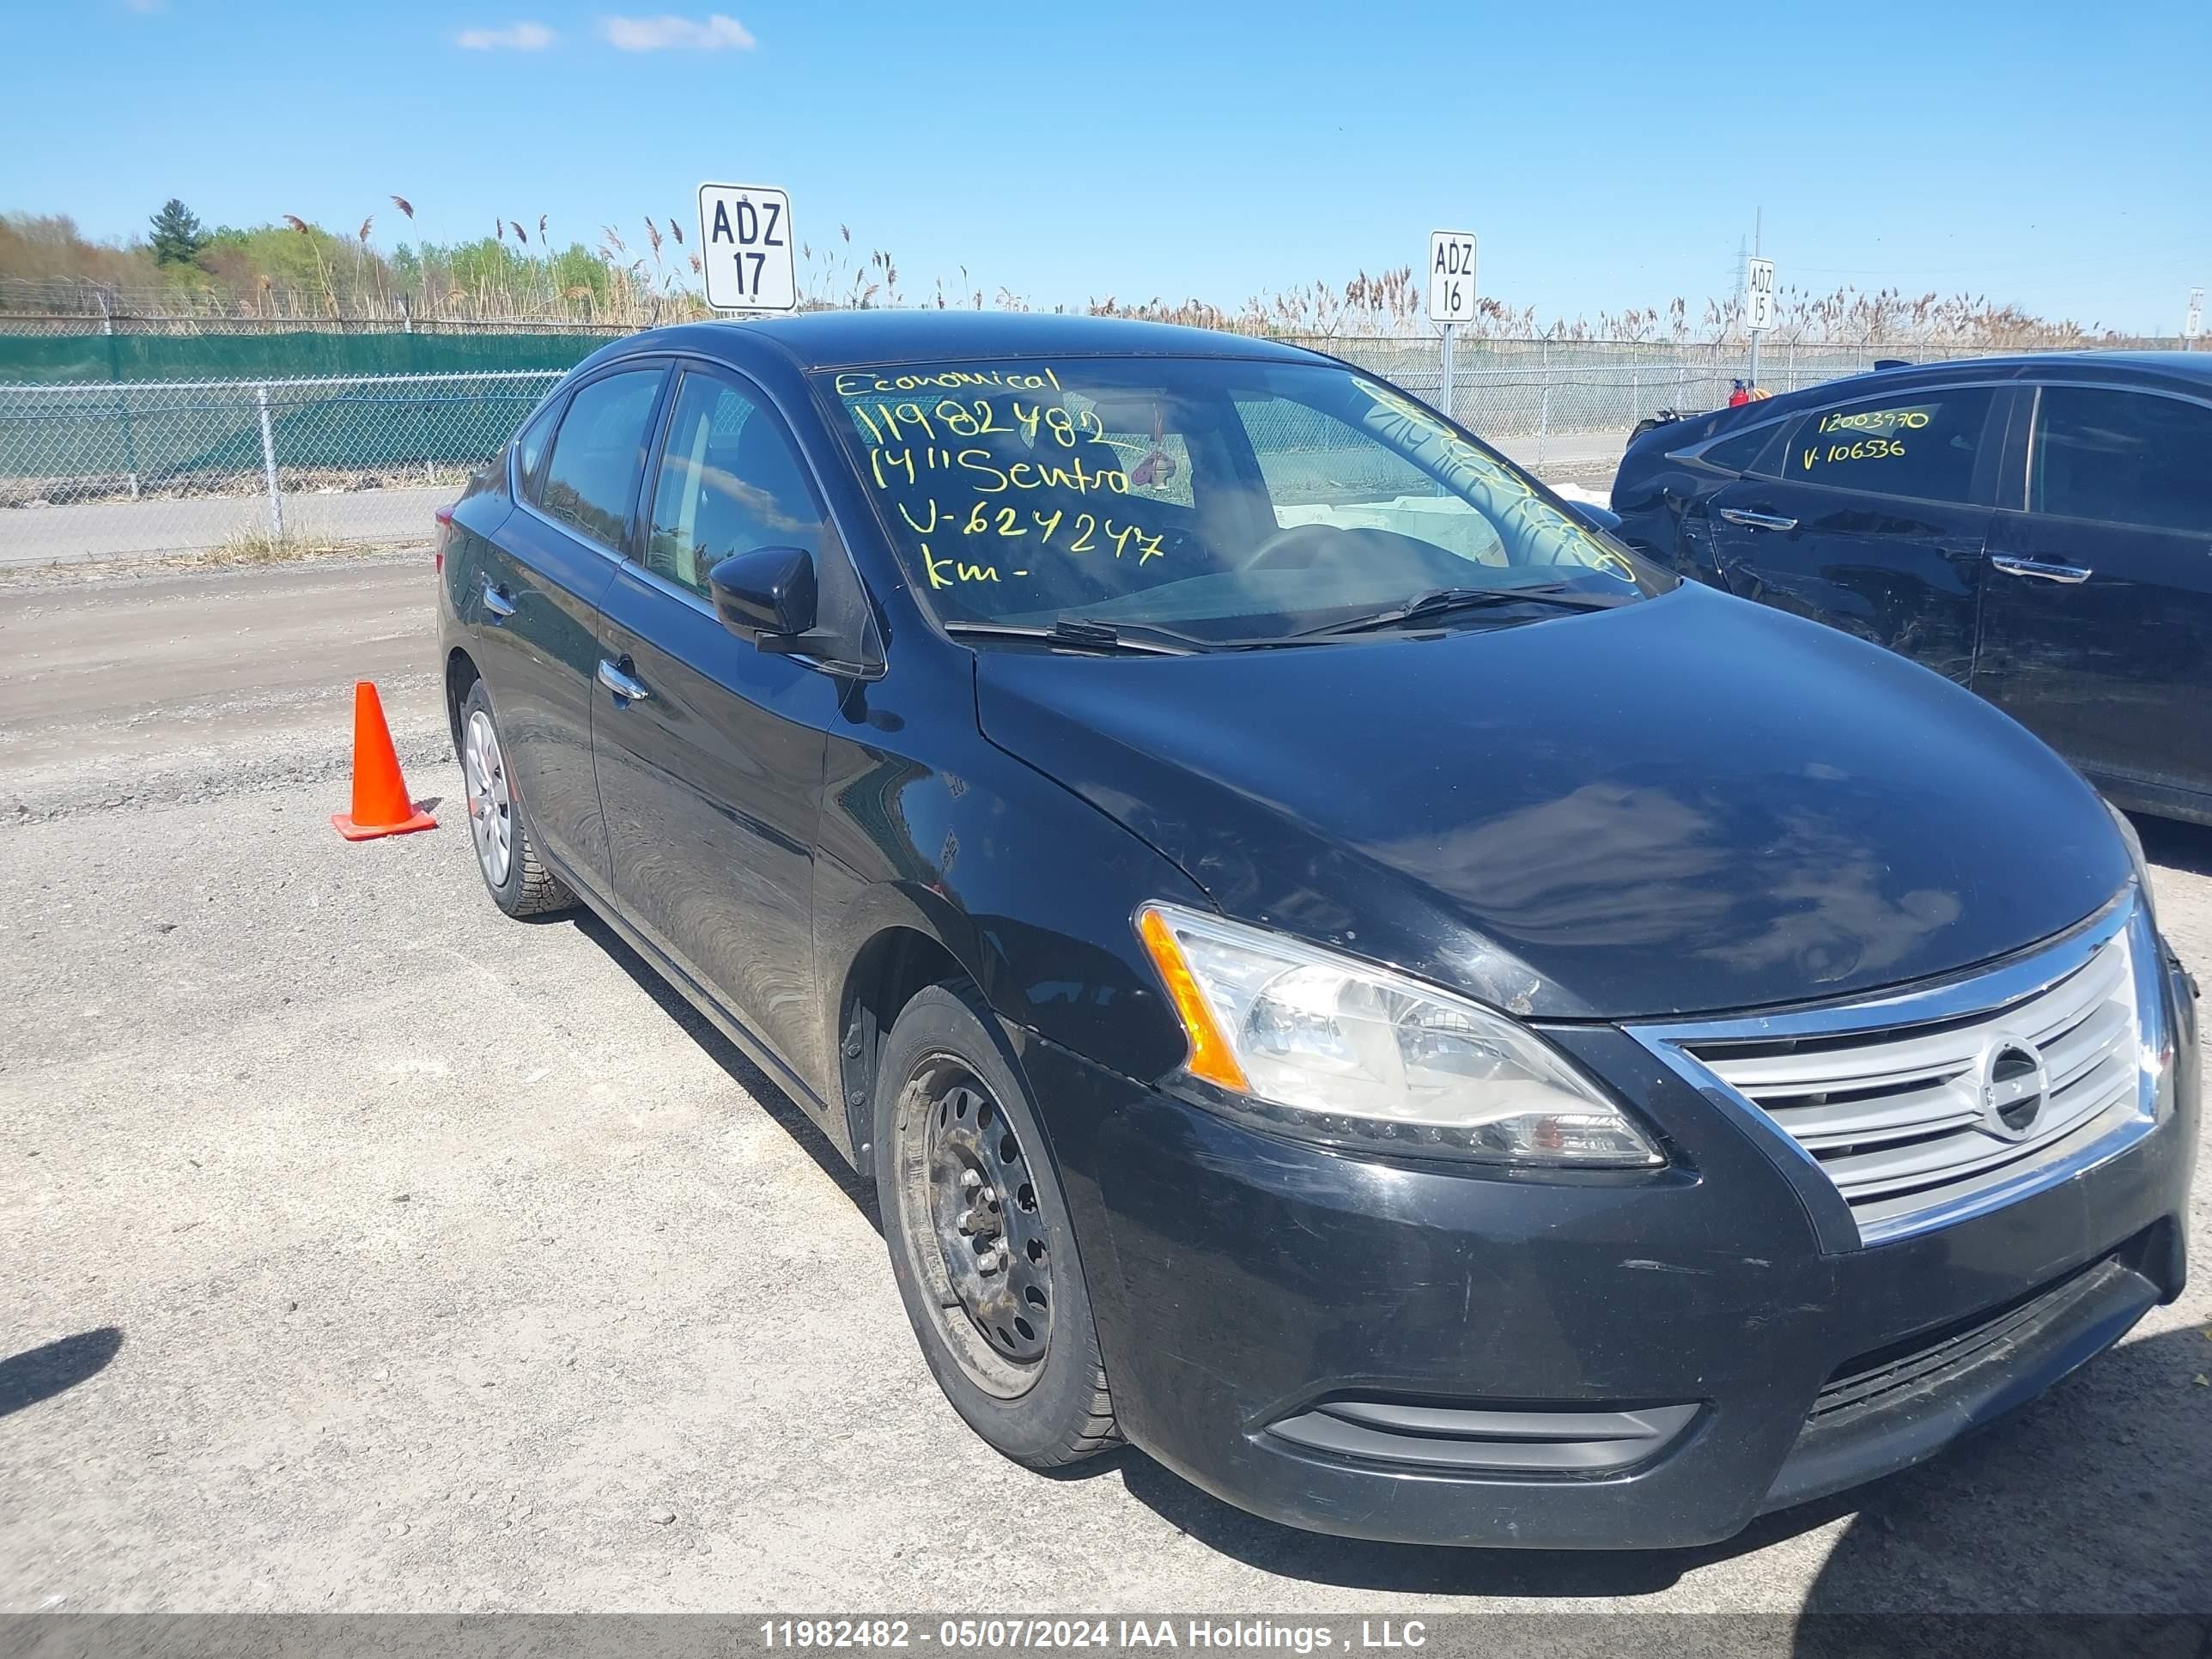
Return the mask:
M947 624L1152 624L1234 644L1444 613L1526 622L1674 586L1431 409L1334 363L1002 358L816 380Z

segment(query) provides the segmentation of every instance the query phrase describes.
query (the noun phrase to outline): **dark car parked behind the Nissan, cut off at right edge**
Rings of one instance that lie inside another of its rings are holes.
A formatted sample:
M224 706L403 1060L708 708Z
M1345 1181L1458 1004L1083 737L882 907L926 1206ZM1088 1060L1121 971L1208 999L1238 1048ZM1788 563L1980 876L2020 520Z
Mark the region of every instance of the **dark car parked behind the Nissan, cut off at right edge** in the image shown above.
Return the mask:
M2212 823L2212 354L1891 367L1697 416L1630 442L1613 509L1683 575L1971 686L2119 805Z

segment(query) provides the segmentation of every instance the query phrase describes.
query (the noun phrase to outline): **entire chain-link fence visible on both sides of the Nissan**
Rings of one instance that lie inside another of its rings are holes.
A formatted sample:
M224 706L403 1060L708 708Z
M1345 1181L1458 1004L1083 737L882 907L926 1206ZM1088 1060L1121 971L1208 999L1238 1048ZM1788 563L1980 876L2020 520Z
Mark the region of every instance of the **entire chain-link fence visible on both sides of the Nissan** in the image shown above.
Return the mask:
M1296 341L1442 403L1436 338ZM1767 343L1770 392L1878 358L1984 356ZM427 540L560 369L0 385L0 566L219 549ZM1604 482L1637 420L1712 409L1741 345L1460 341L1451 414L1546 478Z

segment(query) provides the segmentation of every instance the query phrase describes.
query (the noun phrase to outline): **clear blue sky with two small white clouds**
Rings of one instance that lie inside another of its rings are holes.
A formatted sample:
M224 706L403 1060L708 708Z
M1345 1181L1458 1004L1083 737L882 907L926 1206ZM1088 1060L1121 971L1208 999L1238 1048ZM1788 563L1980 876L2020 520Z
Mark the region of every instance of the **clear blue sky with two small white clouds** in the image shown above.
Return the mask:
M0 208L97 237L179 195L389 246L398 192L416 234L635 243L719 177L909 294L1237 303L1464 226L1542 316L1694 310L1759 206L1785 285L2166 332L2212 285L2205 0L0 0Z

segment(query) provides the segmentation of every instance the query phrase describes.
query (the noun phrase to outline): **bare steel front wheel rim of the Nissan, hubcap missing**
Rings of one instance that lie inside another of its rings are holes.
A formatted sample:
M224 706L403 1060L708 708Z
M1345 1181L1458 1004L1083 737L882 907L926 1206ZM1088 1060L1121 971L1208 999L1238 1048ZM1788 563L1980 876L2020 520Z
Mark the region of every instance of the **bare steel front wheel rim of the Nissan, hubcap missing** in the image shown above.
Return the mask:
M1053 1343L1053 1267L1029 1148L962 1060L931 1055L907 1084L900 1208L938 1329L1000 1398L1026 1394Z

